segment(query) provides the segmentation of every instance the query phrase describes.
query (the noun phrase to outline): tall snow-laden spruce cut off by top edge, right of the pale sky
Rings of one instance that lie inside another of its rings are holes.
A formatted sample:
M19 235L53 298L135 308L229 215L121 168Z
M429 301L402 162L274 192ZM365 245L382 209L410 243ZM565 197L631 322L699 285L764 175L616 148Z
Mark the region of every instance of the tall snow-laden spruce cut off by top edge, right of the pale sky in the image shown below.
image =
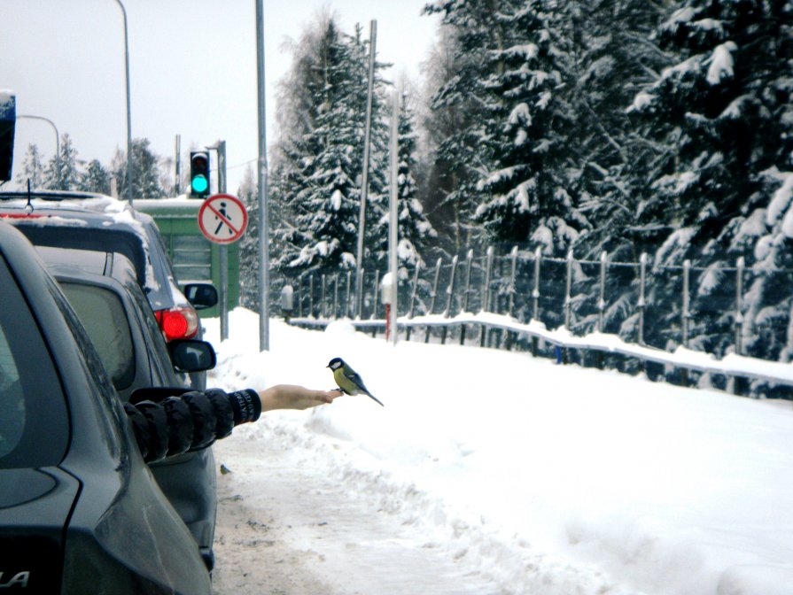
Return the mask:
M474 120L455 136L469 149L455 151L466 158L457 191L470 200L470 218L484 226L483 243L502 253L519 244L564 256L587 228L577 208L570 3L480 0L431 9L455 27L462 66L436 102L454 91L449 97L474 105ZM564 267L546 269L543 278L564 293ZM559 310L548 323L561 322Z

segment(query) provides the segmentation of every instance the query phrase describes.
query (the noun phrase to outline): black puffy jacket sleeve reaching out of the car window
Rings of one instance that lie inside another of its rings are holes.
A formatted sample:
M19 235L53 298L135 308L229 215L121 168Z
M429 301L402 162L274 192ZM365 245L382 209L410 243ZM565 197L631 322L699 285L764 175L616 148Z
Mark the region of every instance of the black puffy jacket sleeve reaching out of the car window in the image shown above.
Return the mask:
M146 462L206 448L261 414L259 395L253 389L175 391L145 390L124 404Z

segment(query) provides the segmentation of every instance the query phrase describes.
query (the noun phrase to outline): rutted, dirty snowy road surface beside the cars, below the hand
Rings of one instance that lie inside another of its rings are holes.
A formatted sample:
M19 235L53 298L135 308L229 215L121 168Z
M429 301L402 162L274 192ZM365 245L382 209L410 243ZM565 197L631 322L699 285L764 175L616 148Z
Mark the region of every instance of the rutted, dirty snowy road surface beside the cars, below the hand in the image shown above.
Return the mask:
M214 448L218 464L231 469L218 477L218 595L503 592L377 501L351 498L284 434L237 436Z

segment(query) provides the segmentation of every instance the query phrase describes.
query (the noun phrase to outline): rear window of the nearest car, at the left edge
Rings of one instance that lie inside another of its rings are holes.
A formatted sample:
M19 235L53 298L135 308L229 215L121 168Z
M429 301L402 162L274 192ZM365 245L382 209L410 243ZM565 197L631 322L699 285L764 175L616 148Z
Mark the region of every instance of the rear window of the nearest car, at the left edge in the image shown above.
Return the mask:
M39 327L0 258L0 468L57 465L66 452L66 401Z

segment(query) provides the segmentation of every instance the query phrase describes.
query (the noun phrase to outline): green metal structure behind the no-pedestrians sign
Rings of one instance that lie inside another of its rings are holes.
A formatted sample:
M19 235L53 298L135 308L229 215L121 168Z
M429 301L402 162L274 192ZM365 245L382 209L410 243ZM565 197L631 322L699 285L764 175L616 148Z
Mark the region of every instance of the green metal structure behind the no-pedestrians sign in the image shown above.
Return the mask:
M174 263L179 286L190 281L211 281L221 291L220 244L210 242L198 228L196 198L137 199L135 208L152 215ZM239 243L226 244L229 254L229 311L239 304ZM201 318L220 316L220 306L202 310Z

